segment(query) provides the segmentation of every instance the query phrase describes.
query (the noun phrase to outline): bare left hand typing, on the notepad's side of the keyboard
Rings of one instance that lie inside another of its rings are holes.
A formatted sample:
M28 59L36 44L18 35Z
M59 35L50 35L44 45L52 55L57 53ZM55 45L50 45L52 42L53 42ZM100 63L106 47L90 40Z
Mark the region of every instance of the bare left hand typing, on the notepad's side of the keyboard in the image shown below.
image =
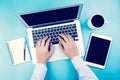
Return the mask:
M49 50L50 47L50 50ZM45 37L40 39L36 44L37 63L46 64L53 52L53 45L50 43L50 38Z

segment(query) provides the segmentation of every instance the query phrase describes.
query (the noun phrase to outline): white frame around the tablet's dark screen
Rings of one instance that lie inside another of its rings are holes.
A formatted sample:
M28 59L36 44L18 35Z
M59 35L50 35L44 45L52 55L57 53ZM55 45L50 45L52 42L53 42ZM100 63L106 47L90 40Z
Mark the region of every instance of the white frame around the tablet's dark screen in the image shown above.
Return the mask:
M105 64L104 65L93 63L93 62L90 62L90 61L86 61L88 50L89 50L90 43L91 43L91 40L92 40L93 36L110 41L110 45L109 45L109 48L108 48L108 51L107 51L107 56L106 56ZM87 48L87 51L86 51L85 59L84 59L85 63L87 65L90 65L90 66L93 66L93 67L96 67L96 68L104 69L105 66L106 66L106 62L107 62L108 54L109 54L109 51L110 51L111 43L112 43L112 38L111 37L100 35L100 34L96 34L96 33L92 33L91 37L90 37L89 44L88 44L88 48Z

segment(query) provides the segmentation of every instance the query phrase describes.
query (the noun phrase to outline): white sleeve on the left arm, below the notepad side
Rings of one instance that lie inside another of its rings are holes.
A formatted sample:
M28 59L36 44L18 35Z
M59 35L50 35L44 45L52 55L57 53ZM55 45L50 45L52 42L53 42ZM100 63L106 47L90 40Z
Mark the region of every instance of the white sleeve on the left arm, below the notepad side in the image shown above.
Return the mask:
M44 64L36 64L31 80L44 80L47 67Z

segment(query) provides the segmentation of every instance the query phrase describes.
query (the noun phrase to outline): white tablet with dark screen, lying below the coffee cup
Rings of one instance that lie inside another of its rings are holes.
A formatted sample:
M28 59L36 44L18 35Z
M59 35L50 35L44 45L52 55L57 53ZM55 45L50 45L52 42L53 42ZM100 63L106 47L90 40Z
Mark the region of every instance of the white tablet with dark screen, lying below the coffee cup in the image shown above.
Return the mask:
M85 63L90 66L104 69L111 42L111 37L92 33L86 51Z

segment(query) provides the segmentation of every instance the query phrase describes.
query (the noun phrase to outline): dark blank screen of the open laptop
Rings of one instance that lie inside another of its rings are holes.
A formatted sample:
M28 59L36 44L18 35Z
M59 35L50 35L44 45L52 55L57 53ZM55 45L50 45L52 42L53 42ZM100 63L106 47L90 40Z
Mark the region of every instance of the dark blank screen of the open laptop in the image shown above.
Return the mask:
M40 24L76 19L78 18L78 12L80 12L81 9L82 5L77 5L72 7L23 14L20 15L20 17L25 21L25 23L27 23L28 26L35 26Z

